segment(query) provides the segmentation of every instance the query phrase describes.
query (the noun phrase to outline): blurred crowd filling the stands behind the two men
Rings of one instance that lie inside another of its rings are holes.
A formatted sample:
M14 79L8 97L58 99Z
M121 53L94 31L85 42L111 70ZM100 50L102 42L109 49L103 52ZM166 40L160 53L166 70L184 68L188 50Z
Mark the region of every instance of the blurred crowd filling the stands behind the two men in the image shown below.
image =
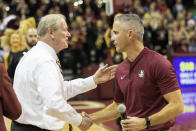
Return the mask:
M82 74L82 68L99 64L108 56L120 63L126 54L115 52L111 28L117 13L136 13L145 27L144 45L165 56L196 52L196 0L130 0L118 12L106 15L106 0L0 0L0 61L12 50L9 39L18 31L21 43L28 28L37 26L45 14L66 16L72 35L68 49L59 53L62 68ZM128 1L128 0L127 0ZM12 30L12 31L10 31ZM4 38L8 40L5 41ZM25 41L23 41L25 43ZM19 44L25 49L25 44Z

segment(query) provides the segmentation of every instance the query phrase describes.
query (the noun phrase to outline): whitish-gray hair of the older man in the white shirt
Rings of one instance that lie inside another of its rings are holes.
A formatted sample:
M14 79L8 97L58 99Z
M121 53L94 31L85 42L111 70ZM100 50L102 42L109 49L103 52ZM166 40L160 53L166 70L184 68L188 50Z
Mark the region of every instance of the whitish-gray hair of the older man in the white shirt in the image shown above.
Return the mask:
M65 20L65 16L61 14L49 14L42 17L37 27L38 38L44 36L48 28L57 30L62 20Z

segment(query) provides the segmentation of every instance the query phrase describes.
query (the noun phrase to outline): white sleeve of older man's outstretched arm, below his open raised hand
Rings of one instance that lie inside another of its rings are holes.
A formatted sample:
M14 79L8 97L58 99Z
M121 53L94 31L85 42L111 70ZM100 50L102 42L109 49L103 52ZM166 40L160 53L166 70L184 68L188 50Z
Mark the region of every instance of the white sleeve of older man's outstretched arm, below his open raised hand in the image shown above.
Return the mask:
M97 85L93 80L93 76L90 76L85 79L79 78L71 81L64 81L63 89L64 93L66 94L66 100L68 100L78 94L87 92L96 87Z

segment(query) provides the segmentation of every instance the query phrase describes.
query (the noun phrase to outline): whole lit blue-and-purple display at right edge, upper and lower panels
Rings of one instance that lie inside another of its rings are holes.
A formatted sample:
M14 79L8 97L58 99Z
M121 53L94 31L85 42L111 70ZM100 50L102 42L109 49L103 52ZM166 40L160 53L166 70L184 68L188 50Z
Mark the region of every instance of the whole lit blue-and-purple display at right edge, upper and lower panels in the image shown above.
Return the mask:
M196 116L196 54L176 54L172 63L182 92L185 113Z

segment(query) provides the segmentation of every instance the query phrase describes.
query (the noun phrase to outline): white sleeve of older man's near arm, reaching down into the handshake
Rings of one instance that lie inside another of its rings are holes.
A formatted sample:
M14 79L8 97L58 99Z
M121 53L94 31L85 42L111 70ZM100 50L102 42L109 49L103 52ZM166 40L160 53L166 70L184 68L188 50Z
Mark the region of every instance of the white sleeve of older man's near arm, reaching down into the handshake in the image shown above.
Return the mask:
M80 125L82 116L65 99L63 79L56 63L46 61L35 72L38 93L43 100L46 114L76 126Z

